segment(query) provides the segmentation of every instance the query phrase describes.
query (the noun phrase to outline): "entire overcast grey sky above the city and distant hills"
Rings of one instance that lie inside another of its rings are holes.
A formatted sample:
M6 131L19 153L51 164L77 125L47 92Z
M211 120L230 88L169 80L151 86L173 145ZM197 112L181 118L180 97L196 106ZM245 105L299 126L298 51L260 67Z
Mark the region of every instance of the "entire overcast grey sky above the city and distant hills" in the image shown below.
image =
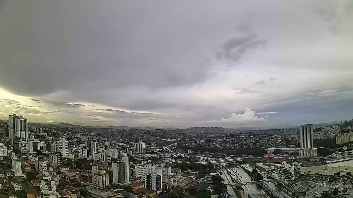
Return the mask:
M352 0L0 0L0 119L285 127L353 117Z

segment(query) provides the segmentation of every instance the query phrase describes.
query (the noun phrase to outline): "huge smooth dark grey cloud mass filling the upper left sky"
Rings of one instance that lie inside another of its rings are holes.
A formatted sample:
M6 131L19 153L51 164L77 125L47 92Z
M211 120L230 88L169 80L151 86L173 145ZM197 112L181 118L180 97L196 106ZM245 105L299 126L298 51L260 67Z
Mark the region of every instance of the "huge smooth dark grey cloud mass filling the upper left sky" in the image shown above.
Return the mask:
M206 56L184 50L189 43L176 40L182 37L177 34L185 33L178 24L186 19L176 22L168 16L159 21L153 10L166 11L152 5L139 13L126 11L141 9L140 2L96 5L94 1L4 3L0 40L6 48L0 48L0 66L6 66L6 74L0 73L1 86L17 94L42 95L141 85L175 87L205 79ZM161 24L154 24L156 20ZM179 33L163 30L163 25Z

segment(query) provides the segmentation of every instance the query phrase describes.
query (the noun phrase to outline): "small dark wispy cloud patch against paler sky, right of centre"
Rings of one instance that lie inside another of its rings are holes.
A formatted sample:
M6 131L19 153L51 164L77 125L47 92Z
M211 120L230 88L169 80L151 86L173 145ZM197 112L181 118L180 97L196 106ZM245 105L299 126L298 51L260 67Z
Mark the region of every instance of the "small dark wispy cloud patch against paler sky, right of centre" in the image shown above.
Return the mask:
M246 52L265 44L265 40L259 39L256 34L252 33L246 36L233 37L222 45L222 51L216 54L216 58L226 58L237 62L246 55Z

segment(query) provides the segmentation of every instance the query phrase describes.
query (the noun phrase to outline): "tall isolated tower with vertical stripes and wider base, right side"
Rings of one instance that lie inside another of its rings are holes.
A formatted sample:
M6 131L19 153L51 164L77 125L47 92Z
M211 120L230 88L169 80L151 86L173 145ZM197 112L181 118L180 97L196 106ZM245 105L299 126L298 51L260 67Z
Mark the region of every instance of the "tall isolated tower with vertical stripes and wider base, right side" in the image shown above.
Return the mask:
M317 148L313 148L313 140L314 140L313 124L300 125L299 157L317 156Z

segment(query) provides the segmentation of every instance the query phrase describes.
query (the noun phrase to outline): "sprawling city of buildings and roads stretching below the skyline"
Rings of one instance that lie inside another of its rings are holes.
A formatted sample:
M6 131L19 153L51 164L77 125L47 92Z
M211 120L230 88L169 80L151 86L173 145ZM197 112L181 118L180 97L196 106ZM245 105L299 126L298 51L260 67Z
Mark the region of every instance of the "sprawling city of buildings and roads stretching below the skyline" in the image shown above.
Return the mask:
M353 198L352 127L89 127L13 114L0 120L0 198Z

